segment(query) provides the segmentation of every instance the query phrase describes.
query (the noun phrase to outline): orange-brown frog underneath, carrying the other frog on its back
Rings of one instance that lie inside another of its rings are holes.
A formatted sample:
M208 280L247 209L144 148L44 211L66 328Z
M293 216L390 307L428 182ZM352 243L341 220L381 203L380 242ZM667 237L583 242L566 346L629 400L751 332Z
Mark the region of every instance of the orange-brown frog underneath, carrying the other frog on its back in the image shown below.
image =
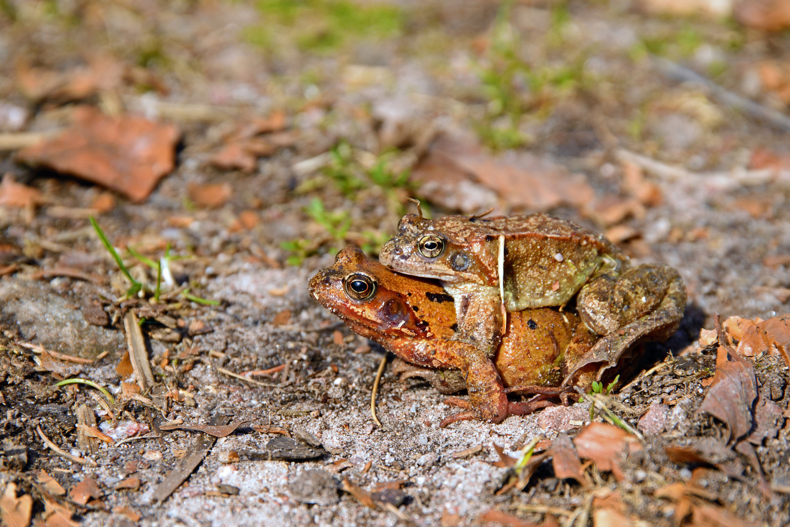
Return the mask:
M331 267L310 279L309 289L353 331L416 364L401 368L407 376L425 377L445 393L468 389L470 402L448 400L468 411L447 417L442 426L489 414L498 422L550 405L546 397L567 391L559 387L563 377L596 340L573 313L527 309L508 317L492 360L480 361L474 346L451 340L457 330L454 301L438 282L397 275L355 247L339 252ZM581 377L583 384L592 382L592 375ZM512 402L508 393L543 398Z

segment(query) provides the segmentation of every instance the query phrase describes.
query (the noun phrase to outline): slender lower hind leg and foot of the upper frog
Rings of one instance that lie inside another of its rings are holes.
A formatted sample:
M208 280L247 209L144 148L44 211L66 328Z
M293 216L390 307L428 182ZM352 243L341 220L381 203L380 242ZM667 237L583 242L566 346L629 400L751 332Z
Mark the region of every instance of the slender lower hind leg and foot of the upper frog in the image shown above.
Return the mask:
M588 364L600 364L596 379L604 376L608 368L617 365L620 357L638 342L662 341L669 338L677 331L680 320L683 318L683 308L686 305L686 286L677 276L670 282L667 294L658 308L648 315L641 316L617 331L604 335L596 342L589 352L585 353L562 381L562 386L568 385L574 376Z

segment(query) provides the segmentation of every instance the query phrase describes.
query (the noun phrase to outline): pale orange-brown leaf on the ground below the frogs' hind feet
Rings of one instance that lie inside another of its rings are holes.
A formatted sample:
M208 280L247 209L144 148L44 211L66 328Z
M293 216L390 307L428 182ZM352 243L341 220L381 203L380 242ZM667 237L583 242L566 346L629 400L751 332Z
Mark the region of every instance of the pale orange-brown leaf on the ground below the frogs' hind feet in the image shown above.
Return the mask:
M574 438L574 445L581 458L592 460L599 470L611 470L617 480L623 480L620 462L628 455L641 450L635 435L612 424L590 423Z

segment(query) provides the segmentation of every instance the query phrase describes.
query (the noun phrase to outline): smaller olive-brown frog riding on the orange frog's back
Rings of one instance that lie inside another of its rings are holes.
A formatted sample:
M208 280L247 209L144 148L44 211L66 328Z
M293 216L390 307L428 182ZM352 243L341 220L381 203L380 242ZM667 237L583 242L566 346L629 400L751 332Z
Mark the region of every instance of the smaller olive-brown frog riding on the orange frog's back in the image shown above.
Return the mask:
M543 213L486 214L405 215L380 254L394 271L442 281L455 300L455 338L475 346L474 360L493 357L506 312L562 308L574 297L581 320L603 338L570 368L566 384L580 368L605 363L600 379L636 342L663 340L677 330L686 287L672 267L630 267L602 234Z

